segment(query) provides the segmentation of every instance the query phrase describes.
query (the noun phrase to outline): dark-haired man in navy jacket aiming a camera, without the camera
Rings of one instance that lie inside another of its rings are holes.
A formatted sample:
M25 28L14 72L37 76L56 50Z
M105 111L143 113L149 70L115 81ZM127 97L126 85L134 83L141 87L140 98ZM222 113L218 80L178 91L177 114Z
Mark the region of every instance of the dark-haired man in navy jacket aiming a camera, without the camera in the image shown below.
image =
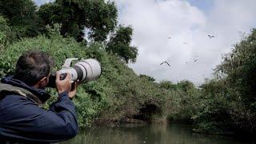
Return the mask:
M14 76L0 83L0 143L50 143L73 138L78 123L74 104L76 82L71 90L70 74L56 74L58 101L42 109L50 95L44 88L53 60L44 52L29 51L16 64Z

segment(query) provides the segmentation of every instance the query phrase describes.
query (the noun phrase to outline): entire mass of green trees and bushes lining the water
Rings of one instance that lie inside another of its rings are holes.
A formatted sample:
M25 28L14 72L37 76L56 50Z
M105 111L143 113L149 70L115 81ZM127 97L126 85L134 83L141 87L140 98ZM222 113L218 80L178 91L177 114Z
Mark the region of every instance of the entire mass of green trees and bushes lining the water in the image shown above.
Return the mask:
M202 86L155 82L126 66L136 62L131 26L117 26L114 2L30 0L0 2L0 76L14 74L26 50L50 53L59 70L65 58L97 58L102 76L82 84L74 98L81 127L94 122L190 122L194 131L255 134L256 30L234 46ZM88 37L83 38L84 35ZM52 95L55 90L49 89ZM45 108L53 102L51 98Z

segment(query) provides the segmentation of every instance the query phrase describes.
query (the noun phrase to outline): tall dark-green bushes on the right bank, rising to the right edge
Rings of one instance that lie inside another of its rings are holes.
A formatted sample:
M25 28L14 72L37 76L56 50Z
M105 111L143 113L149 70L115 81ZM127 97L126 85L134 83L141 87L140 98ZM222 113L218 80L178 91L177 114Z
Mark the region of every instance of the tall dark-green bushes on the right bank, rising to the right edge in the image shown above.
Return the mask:
M194 120L203 131L255 133L256 30L236 44L217 66L213 79L203 84Z

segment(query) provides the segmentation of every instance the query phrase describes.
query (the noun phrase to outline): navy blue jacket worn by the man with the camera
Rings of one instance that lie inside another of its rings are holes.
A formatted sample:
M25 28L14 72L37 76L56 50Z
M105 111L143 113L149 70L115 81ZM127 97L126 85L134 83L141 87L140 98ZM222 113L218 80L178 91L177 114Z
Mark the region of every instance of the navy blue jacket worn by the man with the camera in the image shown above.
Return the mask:
M2 78L2 83L19 86L38 95L42 102L49 94L45 90L27 86L13 77ZM8 94L0 99L0 143L6 139L28 142L60 142L73 138L78 131L73 102L66 92L59 94L58 102L44 110L18 94Z

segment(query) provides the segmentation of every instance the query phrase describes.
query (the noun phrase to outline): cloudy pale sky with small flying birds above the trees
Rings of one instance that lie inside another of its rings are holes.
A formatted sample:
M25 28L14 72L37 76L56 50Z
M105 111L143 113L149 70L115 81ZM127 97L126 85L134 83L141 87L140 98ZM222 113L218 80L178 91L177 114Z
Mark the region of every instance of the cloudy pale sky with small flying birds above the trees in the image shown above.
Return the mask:
M211 77L222 54L230 52L243 33L250 34L256 27L255 0L114 2L118 21L134 29L132 45L138 47L138 58L129 66L135 73L150 75L158 82L203 82ZM209 38L208 34L215 37ZM171 66L160 65L164 61Z

